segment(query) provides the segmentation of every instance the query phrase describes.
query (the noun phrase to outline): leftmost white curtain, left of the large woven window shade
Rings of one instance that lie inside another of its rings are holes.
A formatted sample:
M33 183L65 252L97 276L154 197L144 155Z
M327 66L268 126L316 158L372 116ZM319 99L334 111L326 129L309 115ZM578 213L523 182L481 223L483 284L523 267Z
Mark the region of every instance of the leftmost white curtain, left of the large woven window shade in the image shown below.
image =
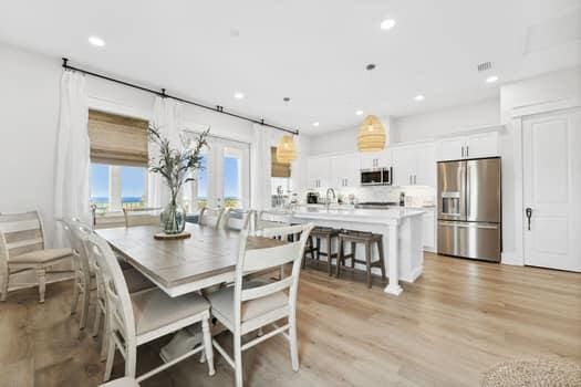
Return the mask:
M89 107L84 75L64 71L61 79L61 106L56 137L54 184L55 218L75 217L91 221L89 188ZM55 244L66 245L61 227Z

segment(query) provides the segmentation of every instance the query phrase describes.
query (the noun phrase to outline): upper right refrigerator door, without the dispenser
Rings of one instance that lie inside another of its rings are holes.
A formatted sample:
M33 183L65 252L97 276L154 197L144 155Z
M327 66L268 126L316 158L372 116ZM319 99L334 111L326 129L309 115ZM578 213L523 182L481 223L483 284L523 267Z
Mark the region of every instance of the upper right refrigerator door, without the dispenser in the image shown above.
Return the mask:
M466 161L466 220L500 222L500 159Z

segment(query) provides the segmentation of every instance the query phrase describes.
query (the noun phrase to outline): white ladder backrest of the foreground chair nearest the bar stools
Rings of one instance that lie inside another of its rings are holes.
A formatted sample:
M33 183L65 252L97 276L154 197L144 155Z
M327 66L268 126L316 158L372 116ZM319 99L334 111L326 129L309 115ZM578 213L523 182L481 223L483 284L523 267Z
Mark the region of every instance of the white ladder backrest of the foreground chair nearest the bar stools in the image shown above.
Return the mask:
M242 303L255 299L269 296L278 292L288 290L286 296L289 297L290 307L297 305L297 290L299 285L299 274L301 272L301 260L307 244L309 233L313 228L312 223L299 224L281 228L269 228L256 231L253 237L262 237L269 239L280 240L280 244L272 248L248 250L248 238L251 233L246 230L242 231L240 242L240 250L238 262L236 264L235 276L235 324L241 324L241 307ZM287 241L289 236L300 234L300 238L294 238L293 242ZM273 269L287 263L292 263L291 274L277 282L264 285L252 286L243 289L243 276L253 272Z

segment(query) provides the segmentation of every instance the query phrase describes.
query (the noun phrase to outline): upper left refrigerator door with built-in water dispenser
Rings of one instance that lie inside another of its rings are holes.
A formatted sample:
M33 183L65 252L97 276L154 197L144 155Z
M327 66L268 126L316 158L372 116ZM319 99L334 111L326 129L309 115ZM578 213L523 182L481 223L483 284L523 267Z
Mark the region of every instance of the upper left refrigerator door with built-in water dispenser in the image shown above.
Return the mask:
M466 161L438 163L438 219L466 220Z

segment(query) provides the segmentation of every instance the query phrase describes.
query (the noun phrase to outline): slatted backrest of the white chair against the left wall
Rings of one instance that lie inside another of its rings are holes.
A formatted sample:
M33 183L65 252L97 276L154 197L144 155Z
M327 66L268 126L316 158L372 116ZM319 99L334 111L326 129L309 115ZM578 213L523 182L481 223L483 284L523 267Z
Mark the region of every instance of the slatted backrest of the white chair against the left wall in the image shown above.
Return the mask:
M44 231L38 211L0 215L0 261L44 249Z

